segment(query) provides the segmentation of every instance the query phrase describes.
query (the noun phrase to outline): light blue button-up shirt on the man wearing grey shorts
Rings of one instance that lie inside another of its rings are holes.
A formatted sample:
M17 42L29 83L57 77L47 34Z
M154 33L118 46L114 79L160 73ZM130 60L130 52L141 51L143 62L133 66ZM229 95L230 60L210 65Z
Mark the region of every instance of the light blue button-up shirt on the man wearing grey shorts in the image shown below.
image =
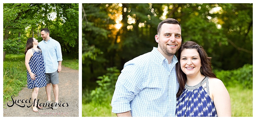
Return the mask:
M39 42L38 46L42 50L44 57L45 73L56 72L59 65L58 61L62 61L60 43L50 37L47 42L44 40Z

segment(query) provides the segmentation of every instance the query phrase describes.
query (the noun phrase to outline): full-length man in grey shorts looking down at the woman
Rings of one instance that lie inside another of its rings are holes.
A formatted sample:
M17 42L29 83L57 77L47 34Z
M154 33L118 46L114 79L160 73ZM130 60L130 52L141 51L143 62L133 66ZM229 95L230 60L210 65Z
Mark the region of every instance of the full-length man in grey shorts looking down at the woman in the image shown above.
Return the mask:
M39 42L38 46L42 50L44 57L44 68L46 76L46 95L47 101L45 105L51 105L51 89L54 93L55 101L53 109L59 106L59 72L61 71L62 54L60 43L50 37L50 30L48 28L41 29L41 37L43 40ZM52 88L51 88L52 84Z

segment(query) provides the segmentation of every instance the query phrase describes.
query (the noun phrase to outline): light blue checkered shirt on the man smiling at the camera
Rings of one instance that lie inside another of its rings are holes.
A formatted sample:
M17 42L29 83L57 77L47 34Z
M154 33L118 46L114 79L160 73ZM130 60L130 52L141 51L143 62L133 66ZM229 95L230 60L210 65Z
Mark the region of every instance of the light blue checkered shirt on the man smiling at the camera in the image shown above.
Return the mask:
M179 83L172 63L153 48L124 64L111 101L113 113L131 110L132 116L175 116Z

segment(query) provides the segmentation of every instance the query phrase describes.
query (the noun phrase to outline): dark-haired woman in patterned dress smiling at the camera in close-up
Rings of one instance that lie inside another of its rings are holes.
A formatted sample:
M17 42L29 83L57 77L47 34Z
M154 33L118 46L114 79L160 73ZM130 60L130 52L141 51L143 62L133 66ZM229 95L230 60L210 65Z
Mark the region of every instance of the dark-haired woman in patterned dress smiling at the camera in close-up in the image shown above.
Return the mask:
M212 72L211 58L197 43L187 41L176 64L180 89L176 116L231 116L228 90Z

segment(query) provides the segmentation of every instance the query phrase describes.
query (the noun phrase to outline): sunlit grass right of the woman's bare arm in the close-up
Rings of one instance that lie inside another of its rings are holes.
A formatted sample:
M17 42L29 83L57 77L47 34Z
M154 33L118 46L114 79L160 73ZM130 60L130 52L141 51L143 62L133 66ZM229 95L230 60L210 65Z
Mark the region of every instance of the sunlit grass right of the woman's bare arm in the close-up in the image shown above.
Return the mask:
M252 117L252 89L242 89L239 86L228 87L232 116Z

